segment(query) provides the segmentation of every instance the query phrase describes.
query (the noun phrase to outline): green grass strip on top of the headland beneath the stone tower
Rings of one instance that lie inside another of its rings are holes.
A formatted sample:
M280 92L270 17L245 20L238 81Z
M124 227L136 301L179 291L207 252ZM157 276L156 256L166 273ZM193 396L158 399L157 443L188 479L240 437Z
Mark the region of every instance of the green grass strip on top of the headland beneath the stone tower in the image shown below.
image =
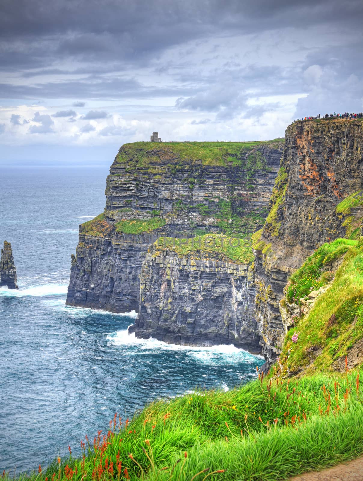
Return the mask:
M159 162L168 159L171 165L179 162L202 165L226 165L236 163L241 155L262 146L276 147L284 139L274 139L256 142L133 142L124 144L116 156L119 163L137 162L139 166L148 166L150 161Z

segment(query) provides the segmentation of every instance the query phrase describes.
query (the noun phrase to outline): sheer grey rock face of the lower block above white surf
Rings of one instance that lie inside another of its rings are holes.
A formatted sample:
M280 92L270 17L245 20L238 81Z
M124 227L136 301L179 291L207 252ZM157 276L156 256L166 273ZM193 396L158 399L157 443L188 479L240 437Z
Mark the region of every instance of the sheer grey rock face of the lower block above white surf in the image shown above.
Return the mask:
M140 275L136 335L185 345L234 344L259 353L250 266L193 254L150 249Z

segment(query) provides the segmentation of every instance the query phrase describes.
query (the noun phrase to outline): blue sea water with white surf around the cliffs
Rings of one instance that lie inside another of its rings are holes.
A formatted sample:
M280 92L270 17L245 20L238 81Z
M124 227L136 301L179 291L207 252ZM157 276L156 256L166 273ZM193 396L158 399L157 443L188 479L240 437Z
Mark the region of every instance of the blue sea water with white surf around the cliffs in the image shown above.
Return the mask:
M154 398L227 390L263 359L233 346L187 348L127 335L135 313L65 305L78 225L103 211L108 168L2 168L0 242L19 291L0 288L0 468L76 452Z

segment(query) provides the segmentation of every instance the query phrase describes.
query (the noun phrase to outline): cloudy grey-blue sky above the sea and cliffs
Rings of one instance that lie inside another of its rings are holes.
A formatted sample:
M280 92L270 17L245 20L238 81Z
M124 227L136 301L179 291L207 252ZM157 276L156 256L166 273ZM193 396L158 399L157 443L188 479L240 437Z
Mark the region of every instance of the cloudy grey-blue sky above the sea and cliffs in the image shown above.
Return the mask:
M0 163L268 140L363 111L361 0L1 0Z

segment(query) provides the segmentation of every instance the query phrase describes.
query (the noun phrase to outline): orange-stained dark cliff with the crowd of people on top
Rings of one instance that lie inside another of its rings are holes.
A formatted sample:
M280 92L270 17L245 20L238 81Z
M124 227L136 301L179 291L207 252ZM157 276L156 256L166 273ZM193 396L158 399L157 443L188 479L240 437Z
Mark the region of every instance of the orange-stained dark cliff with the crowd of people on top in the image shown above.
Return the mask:
M360 230L362 174L360 120L299 121L287 128L270 212L254 235L257 321L270 363L285 335L279 302L288 275L325 241Z

